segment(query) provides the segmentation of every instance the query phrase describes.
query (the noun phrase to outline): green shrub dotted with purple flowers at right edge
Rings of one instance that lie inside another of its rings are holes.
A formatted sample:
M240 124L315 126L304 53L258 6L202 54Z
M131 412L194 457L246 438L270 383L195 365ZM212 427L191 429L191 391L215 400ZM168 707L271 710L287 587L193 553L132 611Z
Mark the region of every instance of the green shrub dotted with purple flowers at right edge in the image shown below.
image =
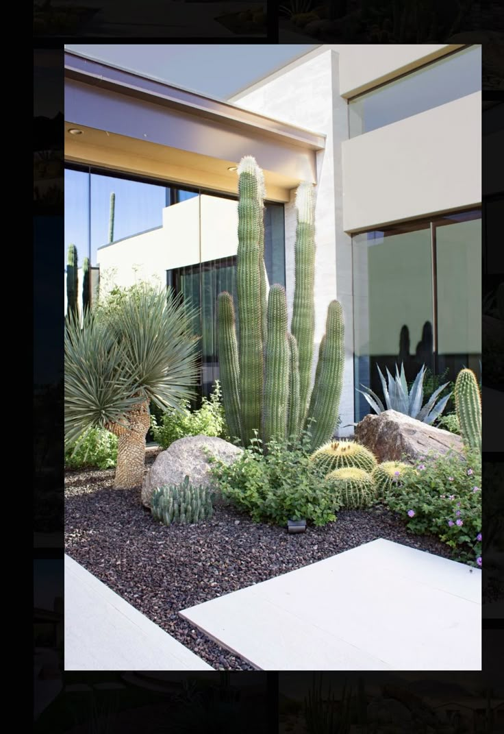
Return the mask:
M386 490L387 506L414 534L435 534L472 566L481 559L481 454L467 451L423 457ZM479 539L478 539L479 538Z

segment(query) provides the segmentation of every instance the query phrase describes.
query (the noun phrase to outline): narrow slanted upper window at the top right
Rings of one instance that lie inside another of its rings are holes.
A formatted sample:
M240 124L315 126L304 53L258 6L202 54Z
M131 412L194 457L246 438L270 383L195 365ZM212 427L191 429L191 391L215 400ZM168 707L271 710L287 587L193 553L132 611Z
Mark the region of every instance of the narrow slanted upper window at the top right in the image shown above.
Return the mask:
M470 46L351 99L349 135L368 133L480 90L481 46Z

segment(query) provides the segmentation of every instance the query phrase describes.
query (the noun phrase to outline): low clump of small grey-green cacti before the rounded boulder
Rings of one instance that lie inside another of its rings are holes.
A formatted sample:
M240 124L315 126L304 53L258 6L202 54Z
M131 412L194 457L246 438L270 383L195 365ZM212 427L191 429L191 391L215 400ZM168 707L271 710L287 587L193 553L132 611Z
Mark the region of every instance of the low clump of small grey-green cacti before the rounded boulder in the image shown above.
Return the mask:
M186 476L180 484L158 487L150 501L150 512L164 525L197 523L213 515L212 494L209 487L191 484Z

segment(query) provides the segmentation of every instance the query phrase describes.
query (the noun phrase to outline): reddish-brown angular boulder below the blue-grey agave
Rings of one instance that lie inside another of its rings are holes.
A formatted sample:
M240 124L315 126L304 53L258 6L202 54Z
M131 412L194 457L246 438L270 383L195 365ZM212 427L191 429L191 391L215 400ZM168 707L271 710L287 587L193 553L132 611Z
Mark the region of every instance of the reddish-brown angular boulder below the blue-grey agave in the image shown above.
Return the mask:
M428 426L396 410L366 415L355 426L355 440L373 451L379 462L398 461L403 454L411 462L416 462L428 451L446 454L453 450L461 456L463 454L460 436Z

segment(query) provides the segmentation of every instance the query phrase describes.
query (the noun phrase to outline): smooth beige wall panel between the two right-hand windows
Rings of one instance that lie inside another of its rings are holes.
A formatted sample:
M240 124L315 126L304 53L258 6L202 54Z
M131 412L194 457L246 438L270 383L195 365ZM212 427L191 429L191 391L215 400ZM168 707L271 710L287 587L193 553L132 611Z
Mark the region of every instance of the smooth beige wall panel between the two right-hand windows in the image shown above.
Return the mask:
M343 228L481 203L481 92L343 142Z

